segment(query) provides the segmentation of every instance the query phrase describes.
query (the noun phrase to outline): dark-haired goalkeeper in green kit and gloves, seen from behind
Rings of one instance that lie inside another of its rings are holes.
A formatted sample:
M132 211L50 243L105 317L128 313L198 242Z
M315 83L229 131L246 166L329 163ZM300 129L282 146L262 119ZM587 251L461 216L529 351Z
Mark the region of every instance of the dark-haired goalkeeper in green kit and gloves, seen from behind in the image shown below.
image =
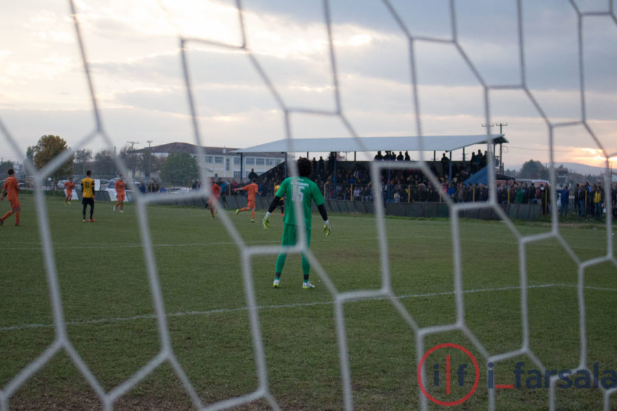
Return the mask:
M285 196L287 196L288 200L292 201L291 206L288 205L287 210L285 210L285 219L283 220L284 225L281 244L284 247L295 245L298 239L298 225L295 219L295 207L293 204L295 201L300 201L300 205L302 206L302 216L300 218L304 219L307 247L311 245L311 203L313 201L315 201L319 214L322 214L322 219L324 219L324 233L326 233L326 236L330 235L330 223L328 222L328 213L324 206L324 196L322 192L319 191L317 184L309 179L309 175L311 175L313 171L313 164L308 158L300 158L297 163L300 177L289 177L283 180L263 218L263 227L270 227L270 214L278 205L278 201ZM280 253L276 258L276 271L274 274L274 284L272 284L274 288L280 286L280 273L282 272L283 266L285 266L286 258L287 253L285 251ZM302 288L315 288L315 286L309 282L310 270L311 264L309 264L309 260L302 254L302 274L304 274Z

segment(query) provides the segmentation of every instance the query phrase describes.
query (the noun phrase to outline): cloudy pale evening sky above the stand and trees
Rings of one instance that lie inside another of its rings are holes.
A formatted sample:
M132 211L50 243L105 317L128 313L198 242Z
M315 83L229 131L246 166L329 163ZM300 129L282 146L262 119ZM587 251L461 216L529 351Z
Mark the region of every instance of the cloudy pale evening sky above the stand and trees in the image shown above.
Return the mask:
M500 130L505 169L617 156L617 0L324 3L75 0L93 99L71 3L2 2L0 158Z

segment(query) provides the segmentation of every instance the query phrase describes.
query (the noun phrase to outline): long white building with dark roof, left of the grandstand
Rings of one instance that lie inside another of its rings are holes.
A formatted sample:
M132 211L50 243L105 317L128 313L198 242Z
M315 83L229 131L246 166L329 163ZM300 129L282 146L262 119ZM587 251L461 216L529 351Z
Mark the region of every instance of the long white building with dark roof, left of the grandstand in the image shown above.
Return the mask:
M257 175L261 175L285 162L283 153L239 154L232 153L237 149L226 147L202 147L202 149L204 150L204 163L213 177L246 179L252 169ZM197 157L197 146L186 142L170 142L150 147L149 150L158 158L166 158L169 153L189 153L191 157ZM147 151L147 149L139 151Z

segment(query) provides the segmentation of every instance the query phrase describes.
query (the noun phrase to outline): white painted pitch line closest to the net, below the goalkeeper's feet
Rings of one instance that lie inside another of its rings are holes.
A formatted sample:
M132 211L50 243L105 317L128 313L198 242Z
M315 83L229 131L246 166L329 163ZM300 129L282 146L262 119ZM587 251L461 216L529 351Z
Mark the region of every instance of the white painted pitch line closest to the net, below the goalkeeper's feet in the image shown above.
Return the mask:
M565 288L576 288L576 284L537 284L533 286L528 286L528 289L531 288L553 288L553 287L565 287ZM498 287L498 288L478 288L474 290L465 290L463 293L472 294L475 292L494 292L494 291L511 291L511 290L519 290L520 286L511 286L511 287ZM594 287L594 286L585 286L585 289L588 290L601 290L601 291L617 291L617 288L603 288L603 287ZM454 291L444 291L444 292L427 292L424 294L407 294L407 295L398 295L396 298L398 299L407 299L407 298L423 298L423 297L442 297L446 295L454 295ZM358 302L358 301L372 301L372 300L383 300L387 297L375 297L370 299L359 299L359 300L350 300L349 302ZM280 304L276 306L257 306L258 310L276 310L280 308L298 308L298 307L311 307L311 306L326 306L334 303L334 301L315 301L313 303L294 303L294 304ZM167 317L175 317L175 316L189 316L189 315L210 315L210 314L221 314L227 312L239 312L246 311L247 307L238 307L238 308L219 308L217 310L206 310L206 311L185 311L185 312L168 312ZM134 321L141 319L154 319L156 318L154 314L143 314L143 315L135 315L129 317L110 317L104 319L93 319L93 320L84 320L84 321L66 321L66 325L88 325L88 324L97 324L97 323L117 323L120 321ZM52 324L23 324L23 325L11 325L9 327L0 327L0 331L12 331L18 329L28 329L28 328L52 328Z

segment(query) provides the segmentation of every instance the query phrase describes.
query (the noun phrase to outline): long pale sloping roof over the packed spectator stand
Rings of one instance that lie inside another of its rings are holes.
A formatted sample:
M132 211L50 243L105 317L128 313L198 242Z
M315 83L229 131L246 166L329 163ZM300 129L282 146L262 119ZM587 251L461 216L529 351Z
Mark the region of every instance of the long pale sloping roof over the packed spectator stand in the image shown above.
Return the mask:
M509 142L503 134L490 137L494 143ZM232 153L306 153L326 151L452 151L471 145L483 144L486 134L473 136L400 136L400 137L343 137L343 138L293 138L238 149Z

